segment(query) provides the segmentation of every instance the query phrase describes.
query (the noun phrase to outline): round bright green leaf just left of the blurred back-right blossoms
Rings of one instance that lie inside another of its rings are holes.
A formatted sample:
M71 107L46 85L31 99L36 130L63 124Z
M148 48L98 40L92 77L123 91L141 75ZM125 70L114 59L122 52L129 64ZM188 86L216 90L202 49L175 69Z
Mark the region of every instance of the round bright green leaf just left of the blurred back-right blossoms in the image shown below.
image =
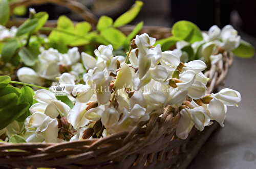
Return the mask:
M203 40L200 29L190 21L178 21L172 28L173 36L190 43Z

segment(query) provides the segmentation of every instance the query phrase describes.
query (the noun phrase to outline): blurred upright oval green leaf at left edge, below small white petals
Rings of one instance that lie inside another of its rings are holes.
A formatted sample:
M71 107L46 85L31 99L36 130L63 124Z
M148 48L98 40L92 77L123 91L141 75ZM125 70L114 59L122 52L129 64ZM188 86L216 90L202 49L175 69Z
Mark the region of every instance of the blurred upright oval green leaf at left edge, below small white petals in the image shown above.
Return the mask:
M5 63L9 62L10 59L15 54L17 49L18 49L18 40L17 39L13 39L13 40L5 42L3 49L2 49L1 60Z

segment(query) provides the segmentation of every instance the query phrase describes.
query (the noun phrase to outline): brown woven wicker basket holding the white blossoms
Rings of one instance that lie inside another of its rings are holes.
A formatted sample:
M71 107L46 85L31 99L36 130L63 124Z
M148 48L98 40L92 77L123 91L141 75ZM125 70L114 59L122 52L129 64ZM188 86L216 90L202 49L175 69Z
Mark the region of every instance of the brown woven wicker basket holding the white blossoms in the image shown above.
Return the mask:
M132 29L121 28L124 33ZM169 28L144 27L142 32L157 39L170 36ZM223 60L205 72L211 79L207 93L222 84L231 63L232 55L224 52ZM194 127L183 140L175 135L179 119L178 108L167 106L161 117L153 114L131 132L104 138L65 143L1 142L0 168L186 168L219 125L206 126L202 132Z

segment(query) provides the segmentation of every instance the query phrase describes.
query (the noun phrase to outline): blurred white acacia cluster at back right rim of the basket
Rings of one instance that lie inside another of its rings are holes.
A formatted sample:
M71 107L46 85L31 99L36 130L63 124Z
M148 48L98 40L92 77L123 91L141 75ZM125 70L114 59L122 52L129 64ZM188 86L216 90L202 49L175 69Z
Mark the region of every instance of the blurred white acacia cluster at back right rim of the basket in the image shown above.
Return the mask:
M231 52L240 45L241 36L231 26L227 25L220 29L218 26L212 26L208 33L202 32L203 40L196 41L192 44L186 41L176 43L176 52L182 62L189 60L189 54L184 51L184 47L191 46L194 52L194 58L204 61L206 64L216 64L222 60L224 51ZM190 56L191 57L191 56Z

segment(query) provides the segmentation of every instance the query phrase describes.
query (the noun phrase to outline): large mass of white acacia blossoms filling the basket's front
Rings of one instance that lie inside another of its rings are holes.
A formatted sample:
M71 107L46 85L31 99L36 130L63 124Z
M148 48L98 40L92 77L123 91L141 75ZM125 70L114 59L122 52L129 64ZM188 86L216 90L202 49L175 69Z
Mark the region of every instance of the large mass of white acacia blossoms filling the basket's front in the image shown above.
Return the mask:
M217 33L211 32L209 37L217 38ZM51 91L37 90L34 99L38 103L31 106L32 115L25 120L26 141L74 141L130 131L152 114L161 115L168 105L180 108L176 135L182 139L193 126L202 131L212 124L211 120L223 126L226 106L238 106L241 94L226 88L206 95L209 79L202 73L206 64L201 60L182 63L175 52L162 52L159 44L153 46L155 41L147 34L137 35L127 54L129 64L123 56L113 55L111 45L100 45L94 51L97 60L82 53L88 70L82 77L84 83L76 84L70 73L57 78L66 83L67 95L74 107L58 101ZM64 57L60 60L52 49L48 55L41 54L39 59L44 71L38 71L40 77L52 79L60 74L54 67L60 62L75 63L78 54L76 49L72 50L75 52L71 51L72 57L66 60Z

